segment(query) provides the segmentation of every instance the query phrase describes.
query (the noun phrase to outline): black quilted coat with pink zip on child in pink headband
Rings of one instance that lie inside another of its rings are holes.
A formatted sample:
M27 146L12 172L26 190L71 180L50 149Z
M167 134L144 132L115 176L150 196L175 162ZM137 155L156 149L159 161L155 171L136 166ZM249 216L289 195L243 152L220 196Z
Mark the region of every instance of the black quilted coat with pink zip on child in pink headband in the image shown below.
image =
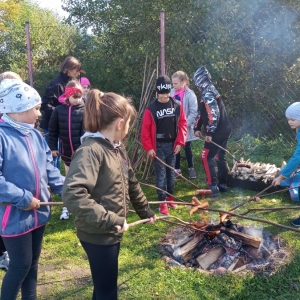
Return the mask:
M71 109L70 119L69 110ZM69 165L71 156L80 146L80 137L84 134L83 127L84 104L69 106L62 104L57 106L52 113L49 122L49 148L57 149L57 140L61 141L62 160ZM71 137L71 139L70 139ZM66 157L65 157L66 156Z

